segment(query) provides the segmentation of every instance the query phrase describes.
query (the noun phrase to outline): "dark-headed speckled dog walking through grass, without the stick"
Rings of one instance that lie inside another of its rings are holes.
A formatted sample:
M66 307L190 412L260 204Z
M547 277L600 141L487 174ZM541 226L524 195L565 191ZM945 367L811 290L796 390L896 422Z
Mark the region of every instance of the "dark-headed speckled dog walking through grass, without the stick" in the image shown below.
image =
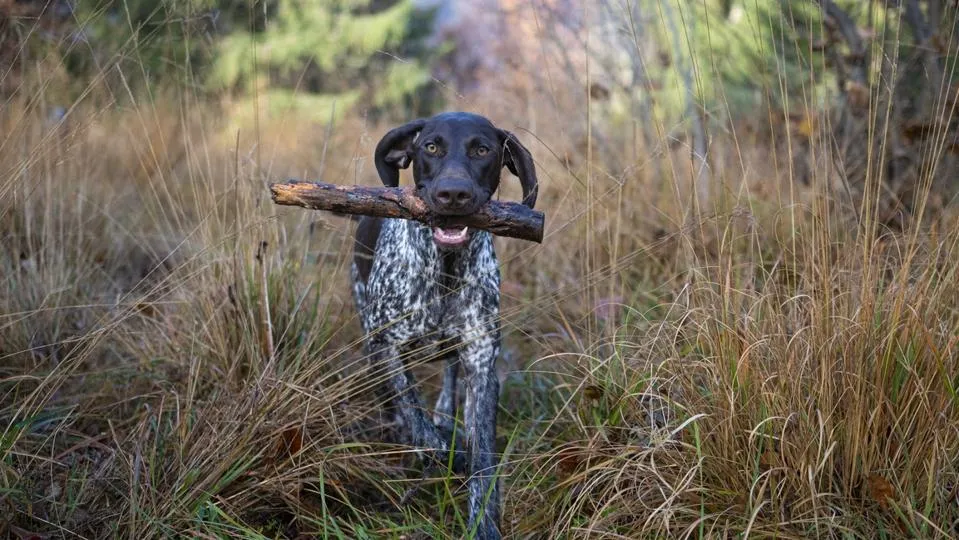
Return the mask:
M505 166L536 202L536 170L529 150L512 133L482 116L444 113L388 132L377 144L376 170L397 186L399 169L413 165L417 194L443 216L476 212L499 186ZM430 227L401 219L362 218L356 230L353 297L366 332L366 352L387 410L409 443L468 472L469 529L499 538L496 408L500 349L499 263L493 238L465 227ZM424 352L426 351L426 352ZM446 360L432 419L425 412L406 360L433 354ZM455 445L456 377L466 372L463 422L467 451Z

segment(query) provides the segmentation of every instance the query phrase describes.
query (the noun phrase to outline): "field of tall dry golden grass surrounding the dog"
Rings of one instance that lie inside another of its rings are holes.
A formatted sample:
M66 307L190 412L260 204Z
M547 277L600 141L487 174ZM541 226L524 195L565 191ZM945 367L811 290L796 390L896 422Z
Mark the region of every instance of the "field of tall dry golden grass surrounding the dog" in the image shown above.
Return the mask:
M395 122L37 73L0 105L0 534L466 535L463 479L389 444L352 222L266 188L374 185ZM712 129L705 172L670 125L564 113L582 89L450 100L530 147L547 215L497 239L506 536L959 535L955 88L908 201L886 89L845 147L806 91Z

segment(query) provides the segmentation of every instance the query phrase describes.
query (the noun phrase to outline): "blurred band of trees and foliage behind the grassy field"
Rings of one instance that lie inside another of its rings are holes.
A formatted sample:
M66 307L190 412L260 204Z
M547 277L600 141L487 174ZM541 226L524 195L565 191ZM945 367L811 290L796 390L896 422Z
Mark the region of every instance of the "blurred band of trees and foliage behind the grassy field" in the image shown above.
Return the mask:
M955 8L937 0L5 0L0 92L9 99L43 88L57 115L79 96L118 103L131 91L189 88L219 107L224 131L256 125L260 145L276 142L264 140L264 124L289 118L292 129L324 132L338 121L370 128L473 110L534 132L564 167L578 166L588 137L591 166L620 181L653 157L691 159L704 199L712 177L725 174L726 146L775 146L774 174L802 184L817 166L852 187L868 167L884 168L891 193L882 218L900 226L917 173L930 166L922 145L937 127L948 155L936 167L935 202L954 194L944 171L955 133L944 115L955 101ZM894 129L869 136L868 110ZM832 141L832 163L811 155L815 136ZM859 159L869 145L882 148L881 164Z

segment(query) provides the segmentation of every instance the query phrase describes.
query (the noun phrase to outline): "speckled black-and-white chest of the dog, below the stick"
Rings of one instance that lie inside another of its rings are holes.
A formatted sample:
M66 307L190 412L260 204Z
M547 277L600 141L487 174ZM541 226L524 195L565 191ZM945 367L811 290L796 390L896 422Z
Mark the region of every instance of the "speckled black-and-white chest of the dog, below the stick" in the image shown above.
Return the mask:
M444 256L429 228L388 220L377 242L365 298L367 330L401 340L458 337L499 310L492 238L476 232L461 252Z

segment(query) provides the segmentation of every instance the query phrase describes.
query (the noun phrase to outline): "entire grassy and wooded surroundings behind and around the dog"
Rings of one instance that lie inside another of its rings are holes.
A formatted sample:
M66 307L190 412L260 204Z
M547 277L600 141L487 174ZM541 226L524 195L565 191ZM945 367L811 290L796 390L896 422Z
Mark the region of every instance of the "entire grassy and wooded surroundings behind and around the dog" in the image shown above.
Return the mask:
M957 31L953 0L0 0L0 536L467 535L460 479L388 444L352 222L266 189L377 185L446 110L517 135L547 216L496 239L508 536L959 535Z

